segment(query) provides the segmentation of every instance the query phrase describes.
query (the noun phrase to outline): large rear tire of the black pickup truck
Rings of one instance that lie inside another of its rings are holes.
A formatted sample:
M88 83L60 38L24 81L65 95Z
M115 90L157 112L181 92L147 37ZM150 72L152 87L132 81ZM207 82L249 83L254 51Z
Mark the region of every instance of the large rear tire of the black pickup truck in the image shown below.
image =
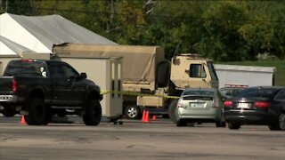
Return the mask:
M30 100L28 115L25 116L28 125L46 125L51 121L51 108L45 106L44 100L33 98Z

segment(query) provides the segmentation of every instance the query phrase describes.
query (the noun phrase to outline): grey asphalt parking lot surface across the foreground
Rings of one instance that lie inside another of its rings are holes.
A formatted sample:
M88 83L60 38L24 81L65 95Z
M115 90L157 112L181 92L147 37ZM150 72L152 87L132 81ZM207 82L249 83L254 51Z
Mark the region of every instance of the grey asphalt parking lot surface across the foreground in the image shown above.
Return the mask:
M0 159L284 159L285 132L245 125L238 131L215 124L176 127L123 119L85 126L77 118L47 126L0 118Z

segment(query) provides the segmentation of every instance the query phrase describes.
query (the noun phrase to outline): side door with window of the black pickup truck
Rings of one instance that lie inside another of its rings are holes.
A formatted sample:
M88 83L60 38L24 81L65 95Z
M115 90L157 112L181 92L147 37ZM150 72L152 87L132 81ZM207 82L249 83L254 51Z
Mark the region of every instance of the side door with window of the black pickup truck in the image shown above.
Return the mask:
M84 101L85 84L77 80L79 74L67 63L48 61L52 78L52 103L59 106L81 106Z

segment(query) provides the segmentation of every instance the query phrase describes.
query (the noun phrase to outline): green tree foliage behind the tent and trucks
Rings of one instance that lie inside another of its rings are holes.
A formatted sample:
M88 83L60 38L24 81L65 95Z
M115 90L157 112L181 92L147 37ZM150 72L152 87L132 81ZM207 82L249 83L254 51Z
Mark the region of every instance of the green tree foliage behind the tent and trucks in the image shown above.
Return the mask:
M7 1L0 12L60 14L118 44L163 46L167 58L198 52L222 61L285 60L285 1Z

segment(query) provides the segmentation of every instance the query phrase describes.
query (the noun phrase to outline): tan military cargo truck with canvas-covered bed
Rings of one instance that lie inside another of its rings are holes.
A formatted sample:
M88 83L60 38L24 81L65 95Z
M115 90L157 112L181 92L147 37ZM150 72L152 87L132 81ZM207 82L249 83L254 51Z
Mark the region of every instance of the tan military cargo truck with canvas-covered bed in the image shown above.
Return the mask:
M122 89L105 92L122 94L124 113L132 119L142 116L143 109L168 116L169 105L175 105L187 87L218 88L213 62L198 54L183 53L166 60L160 46L96 44L55 44L53 53L59 57L122 57Z

